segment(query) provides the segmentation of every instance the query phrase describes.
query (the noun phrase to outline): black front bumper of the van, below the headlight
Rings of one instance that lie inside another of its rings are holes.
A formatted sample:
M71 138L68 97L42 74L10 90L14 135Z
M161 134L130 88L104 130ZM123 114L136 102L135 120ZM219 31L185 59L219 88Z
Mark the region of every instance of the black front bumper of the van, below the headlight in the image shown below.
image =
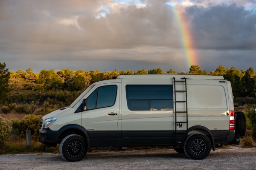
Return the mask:
M39 142L47 146L56 147L59 134L59 131L50 130L49 128L42 129L39 135Z

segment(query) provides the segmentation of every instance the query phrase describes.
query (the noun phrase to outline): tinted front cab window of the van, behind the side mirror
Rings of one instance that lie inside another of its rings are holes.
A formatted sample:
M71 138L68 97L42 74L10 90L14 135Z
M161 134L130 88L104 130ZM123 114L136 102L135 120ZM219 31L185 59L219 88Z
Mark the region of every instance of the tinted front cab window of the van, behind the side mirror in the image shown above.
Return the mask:
M87 98L87 110L113 106L116 101L116 92L116 85L108 85L97 88Z

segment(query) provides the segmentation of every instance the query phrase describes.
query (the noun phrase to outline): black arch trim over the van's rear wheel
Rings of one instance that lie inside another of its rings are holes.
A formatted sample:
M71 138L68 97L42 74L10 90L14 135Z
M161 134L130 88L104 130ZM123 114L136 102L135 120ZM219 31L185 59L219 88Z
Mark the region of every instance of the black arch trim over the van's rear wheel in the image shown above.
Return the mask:
M212 150L215 150L215 142L214 142L212 133L207 127L200 126L200 125L189 127L187 135L189 136L190 134L193 134L193 133L202 133L205 136L207 136L212 144Z

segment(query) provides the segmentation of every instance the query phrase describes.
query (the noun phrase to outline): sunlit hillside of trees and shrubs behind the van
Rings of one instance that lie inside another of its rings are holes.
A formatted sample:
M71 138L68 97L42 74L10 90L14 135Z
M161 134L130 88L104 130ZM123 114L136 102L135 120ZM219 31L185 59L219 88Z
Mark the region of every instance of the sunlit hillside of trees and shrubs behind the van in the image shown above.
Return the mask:
M70 105L82 91L94 82L112 79L122 74L198 74L221 75L229 80L233 88L234 104L246 108L247 119L244 146L254 146L256 140L256 73L253 68L241 70L219 65L215 71L202 71L198 65L192 65L189 72L178 73L170 69L163 72L160 68L146 71L108 72L76 70L41 70L34 73L32 68L26 71L9 71L5 63L0 62L0 149L3 153L20 153L30 150L24 147L26 130L31 130L35 150L46 151L38 143L39 121L42 116ZM5 118L8 115L11 117ZM15 116L13 116L15 115ZM17 119L17 115L21 115ZM15 119L12 119L15 118ZM17 147L15 147L17 146ZM19 147L22 146L22 147ZM31 147L31 148L34 148ZM3 149L4 148L4 149ZM14 148L14 149L12 149ZM23 148L20 150L19 148ZM25 149L24 149L25 148ZM33 149L32 149L33 150Z

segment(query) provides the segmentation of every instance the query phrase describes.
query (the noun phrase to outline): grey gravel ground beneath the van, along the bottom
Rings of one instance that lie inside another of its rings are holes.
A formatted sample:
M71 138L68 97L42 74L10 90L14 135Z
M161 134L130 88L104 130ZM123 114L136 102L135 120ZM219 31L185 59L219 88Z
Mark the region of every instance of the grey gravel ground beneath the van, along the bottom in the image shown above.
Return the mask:
M203 160L188 159L175 150L122 150L87 153L79 162L67 162L60 154L0 155L0 170L256 170L256 147L233 145L211 151Z

